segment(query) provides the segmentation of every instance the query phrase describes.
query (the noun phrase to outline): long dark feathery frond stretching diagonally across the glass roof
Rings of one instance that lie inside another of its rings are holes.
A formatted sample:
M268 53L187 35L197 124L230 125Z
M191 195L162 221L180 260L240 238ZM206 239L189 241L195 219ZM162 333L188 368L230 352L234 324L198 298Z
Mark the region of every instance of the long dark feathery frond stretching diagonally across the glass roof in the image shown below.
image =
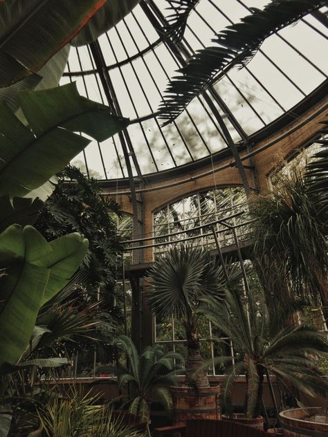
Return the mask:
M320 0L272 0L263 10L252 8L252 14L228 26L212 39L213 46L198 50L186 66L179 69L165 91L160 104L164 124L172 122L194 97L233 66L244 66L262 42L278 30L295 23L309 12L325 6Z

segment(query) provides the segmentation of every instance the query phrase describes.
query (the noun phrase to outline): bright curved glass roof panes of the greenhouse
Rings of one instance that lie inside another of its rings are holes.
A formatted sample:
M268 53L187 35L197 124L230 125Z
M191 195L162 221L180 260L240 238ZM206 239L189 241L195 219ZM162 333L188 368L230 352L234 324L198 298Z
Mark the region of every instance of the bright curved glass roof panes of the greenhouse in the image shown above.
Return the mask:
M182 41L173 44L165 37L165 21L174 2L141 0L98 39L99 44L72 47L62 83L76 81L82 95L104 104L111 99L116 113L131 119L122 135L91 142L73 162L90 176L120 180L128 176L126 147L132 172L141 178L226 149L218 114L237 145L266 131L283 115L288 114L289 121L297 119L300 102L327 93L325 7L268 37L243 68L221 71L170 124L163 126L165 120L158 117L175 71L197 50L211 46L215 33L249 15L249 8L266 3L200 0L188 17Z

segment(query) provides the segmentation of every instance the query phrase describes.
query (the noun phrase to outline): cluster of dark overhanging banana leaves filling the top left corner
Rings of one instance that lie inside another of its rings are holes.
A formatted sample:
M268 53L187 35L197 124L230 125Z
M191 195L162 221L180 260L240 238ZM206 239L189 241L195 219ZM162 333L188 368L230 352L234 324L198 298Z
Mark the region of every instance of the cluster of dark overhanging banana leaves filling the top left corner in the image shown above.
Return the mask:
M0 2L0 100L16 111L18 91L57 86L71 45L95 41L139 1Z

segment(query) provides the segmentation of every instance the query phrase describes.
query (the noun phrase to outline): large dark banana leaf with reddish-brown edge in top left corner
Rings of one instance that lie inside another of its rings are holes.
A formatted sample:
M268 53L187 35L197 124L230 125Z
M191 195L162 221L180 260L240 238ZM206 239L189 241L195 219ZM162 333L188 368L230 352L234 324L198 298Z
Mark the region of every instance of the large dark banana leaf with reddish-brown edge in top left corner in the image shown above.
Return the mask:
M106 0L12 0L0 3L0 86L37 73Z

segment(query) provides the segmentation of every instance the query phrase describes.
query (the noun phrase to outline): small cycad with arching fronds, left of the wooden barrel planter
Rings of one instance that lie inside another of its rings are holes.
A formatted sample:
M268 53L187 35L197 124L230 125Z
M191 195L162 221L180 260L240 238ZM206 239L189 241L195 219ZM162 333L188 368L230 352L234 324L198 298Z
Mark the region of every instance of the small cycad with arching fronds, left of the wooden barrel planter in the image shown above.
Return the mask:
M138 355L136 346L126 335L116 339L116 344L127 358L127 366L111 367L118 377L118 385L129 384L130 398L125 405L130 413L136 414L140 422L149 420L151 403L157 401L170 412L172 398L167 387L176 384L176 368L183 360L179 353L164 353L161 346L149 346Z

